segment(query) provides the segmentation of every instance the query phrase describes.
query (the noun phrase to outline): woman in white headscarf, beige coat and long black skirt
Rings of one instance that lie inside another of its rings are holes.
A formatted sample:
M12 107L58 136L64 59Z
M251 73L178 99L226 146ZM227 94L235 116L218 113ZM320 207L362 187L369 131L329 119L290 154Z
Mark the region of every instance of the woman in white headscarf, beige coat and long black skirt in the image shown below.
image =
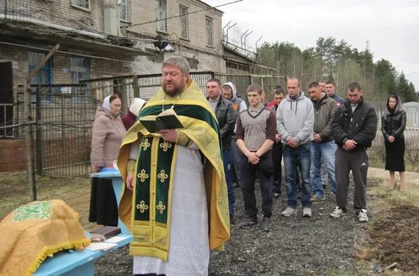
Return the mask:
M117 94L107 96L103 106L98 107L91 134L90 163L94 173L103 168L113 168L119 147L125 136L125 127L119 117L121 98ZM93 177L91 179L89 221L97 224L117 226L118 205L112 180Z

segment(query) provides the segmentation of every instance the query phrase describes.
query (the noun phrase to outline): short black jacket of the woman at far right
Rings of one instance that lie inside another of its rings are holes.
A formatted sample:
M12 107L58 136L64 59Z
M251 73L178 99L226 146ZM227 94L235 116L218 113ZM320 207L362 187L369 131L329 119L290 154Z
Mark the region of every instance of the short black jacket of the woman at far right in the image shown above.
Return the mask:
M381 117L381 132L387 140L388 136L393 136L396 140L404 138L403 131L406 128L406 112L397 110L395 114L384 112Z

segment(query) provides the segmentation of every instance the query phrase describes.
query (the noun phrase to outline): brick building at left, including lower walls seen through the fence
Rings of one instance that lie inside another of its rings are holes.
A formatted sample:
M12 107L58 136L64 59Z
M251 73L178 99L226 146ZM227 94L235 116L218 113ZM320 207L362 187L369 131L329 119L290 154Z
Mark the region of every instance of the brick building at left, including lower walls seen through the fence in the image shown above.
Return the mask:
M63 95L61 99L53 96L49 100L46 96L41 100L45 104L41 117L43 123L51 122L52 126L73 120L68 124L78 128L60 130L45 124L39 126L37 133L43 130L52 134L36 138L48 149L36 150L37 165L40 160L59 165L50 156L57 155L51 149L61 144L63 149L75 152L66 153L66 159L84 160L77 154L89 152L89 123L94 109L89 111L89 116L86 110L78 112L86 108L86 103L75 101L77 97L73 96L64 98L64 93L73 89L67 85L112 77L115 86L119 84L115 80L117 76L159 73L163 59L174 52L186 57L193 71L225 72L221 17L220 10L199 0L0 1L0 138L22 137L10 135L22 128L9 131L12 128L1 129L1 126L22 122L18 119L22 117L22 105L16 106L19 86L59 43L59 51L31 79L31 84L66 85L53 88L52 92ZM97 96L96 90L89 88L91 95ZM102 92L98 99L106 96L104 93L112 92ZM125 108L128 104L125 103ZM82 135L80 129L84 129ZM82 142L73 143L75 139ZM0 171L26 168L24 141L0 140L0 144L3 149ZM80 149L75 150L75 145Z

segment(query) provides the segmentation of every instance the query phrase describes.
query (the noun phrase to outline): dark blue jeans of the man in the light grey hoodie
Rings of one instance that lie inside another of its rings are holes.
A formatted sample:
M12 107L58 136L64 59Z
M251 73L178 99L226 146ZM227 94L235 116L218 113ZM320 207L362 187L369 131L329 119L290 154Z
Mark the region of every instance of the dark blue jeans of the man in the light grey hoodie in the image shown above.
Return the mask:
M311 151L310 143L290 147L284 145L282 156L285 164L285 183L288 207L297 208L297 168L301 175L301 204L303 207L311 208L311 184L310 166Z

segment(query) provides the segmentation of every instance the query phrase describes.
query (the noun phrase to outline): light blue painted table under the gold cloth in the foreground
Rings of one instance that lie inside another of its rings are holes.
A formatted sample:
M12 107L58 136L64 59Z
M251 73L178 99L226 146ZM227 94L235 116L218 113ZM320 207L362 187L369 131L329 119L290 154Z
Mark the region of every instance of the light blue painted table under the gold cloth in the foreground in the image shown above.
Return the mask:
M93 251L84 249L82 252L60 252L54 254L52 258L47 258L36 270L34 276L55 276L55 275L66 275L66 276L84 276L94 275L94 260L98 257L108 254L115 249L128 245L133 241L132 235L119 234L118 237L124 238L118 242L117 247L113 247L108 251L98 250Z

